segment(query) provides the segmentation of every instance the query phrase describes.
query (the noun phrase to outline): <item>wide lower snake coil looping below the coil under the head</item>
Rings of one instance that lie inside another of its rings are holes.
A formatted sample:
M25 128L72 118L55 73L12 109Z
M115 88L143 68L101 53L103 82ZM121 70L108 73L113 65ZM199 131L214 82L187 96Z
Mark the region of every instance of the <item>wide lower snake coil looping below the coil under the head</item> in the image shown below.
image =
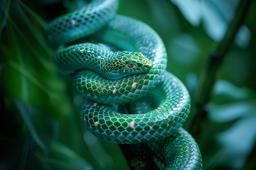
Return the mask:
M145 114L121 114L87 100L82 119L92 134L106 141L138 144L164 139L176 132L188 117L189 93L179 79L166 72L151 95L162 101L157 109Z

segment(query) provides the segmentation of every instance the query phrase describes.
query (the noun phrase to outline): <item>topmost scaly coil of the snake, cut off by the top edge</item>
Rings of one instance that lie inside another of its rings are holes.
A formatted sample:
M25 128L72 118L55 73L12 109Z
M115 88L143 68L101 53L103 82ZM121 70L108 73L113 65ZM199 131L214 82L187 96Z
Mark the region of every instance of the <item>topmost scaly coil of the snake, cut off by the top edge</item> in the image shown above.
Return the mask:
M62 15L50 22L44 32L46 40L49 45L56 48L60 44L90 35L112 19L117 7L117 0L93 0L80 10Z

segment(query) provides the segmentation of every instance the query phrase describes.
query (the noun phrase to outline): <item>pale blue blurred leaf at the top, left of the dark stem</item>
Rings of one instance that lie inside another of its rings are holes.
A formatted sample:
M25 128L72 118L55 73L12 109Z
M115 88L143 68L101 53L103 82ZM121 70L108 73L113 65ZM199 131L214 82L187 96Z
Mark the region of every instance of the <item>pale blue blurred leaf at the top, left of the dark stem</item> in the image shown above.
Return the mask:
M239 0L171 0L193 26L203 24L204 31L215 41L224 37Z

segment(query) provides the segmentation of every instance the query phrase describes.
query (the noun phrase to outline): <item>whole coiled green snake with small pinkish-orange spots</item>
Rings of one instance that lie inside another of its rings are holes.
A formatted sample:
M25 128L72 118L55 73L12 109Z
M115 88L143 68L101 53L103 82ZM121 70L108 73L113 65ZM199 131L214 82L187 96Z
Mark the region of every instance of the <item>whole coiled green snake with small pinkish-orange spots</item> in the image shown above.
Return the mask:
M60 72L74 74L74 85L86 97L83 124L106 141L148 143L166 170L202 169L198 145L181 127L191 107L189 92L166 71L159 35L139 20L117 15L118 3L93 0L45 28L46 41L59 47L54 61ZM99 44L67 46L87 36ZM125 103L132 114L118 109Z

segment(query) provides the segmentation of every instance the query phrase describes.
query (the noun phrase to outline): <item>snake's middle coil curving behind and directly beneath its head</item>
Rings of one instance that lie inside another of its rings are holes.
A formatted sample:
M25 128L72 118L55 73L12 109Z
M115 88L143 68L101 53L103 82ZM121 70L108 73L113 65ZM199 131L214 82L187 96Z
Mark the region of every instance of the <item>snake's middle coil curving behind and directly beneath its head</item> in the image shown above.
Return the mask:
M121 49L138 51L153 62L153 68L145 74L131 75L115 82L99 79L93 72L81 71L76 75L75 86L85 97L102 104L123 104L146 95L159 83L166 69L166 49L162 39L148 25L116 15L92 38ZM102 85L93 88L88 85L99 83Z

